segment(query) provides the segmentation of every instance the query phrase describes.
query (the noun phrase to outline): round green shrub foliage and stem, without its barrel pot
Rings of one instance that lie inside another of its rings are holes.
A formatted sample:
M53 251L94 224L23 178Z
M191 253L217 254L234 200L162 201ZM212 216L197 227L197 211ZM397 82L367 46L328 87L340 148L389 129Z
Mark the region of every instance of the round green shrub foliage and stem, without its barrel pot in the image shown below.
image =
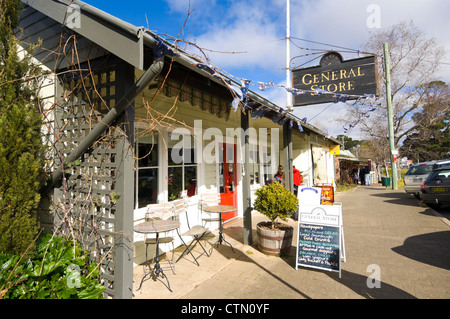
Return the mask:
M297 210L297 196L281 183L272 182L258 189L255 194L253 207L272 221L272 229L278 228L277 218L287 221Z

